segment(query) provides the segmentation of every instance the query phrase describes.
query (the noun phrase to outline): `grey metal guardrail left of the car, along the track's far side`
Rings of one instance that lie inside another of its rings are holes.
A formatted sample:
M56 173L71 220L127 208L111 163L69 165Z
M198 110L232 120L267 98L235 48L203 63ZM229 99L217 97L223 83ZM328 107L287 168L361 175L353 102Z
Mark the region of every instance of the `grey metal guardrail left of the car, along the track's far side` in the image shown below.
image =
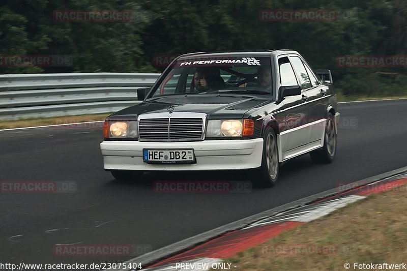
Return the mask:
M0 75L0 119L114 112L139 103L138 87L156 73Z

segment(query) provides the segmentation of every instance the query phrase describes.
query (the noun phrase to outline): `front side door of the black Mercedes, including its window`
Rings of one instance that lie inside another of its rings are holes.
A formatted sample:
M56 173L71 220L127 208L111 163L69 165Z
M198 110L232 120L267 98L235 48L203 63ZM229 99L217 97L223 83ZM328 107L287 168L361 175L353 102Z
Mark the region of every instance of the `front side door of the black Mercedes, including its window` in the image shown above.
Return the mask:
M299 85L294 69L287 56L278 58L280 85ZM308 136L303 134L308 110L304 107L306 95L287 96L283 99L286 130L280 132L280 148L282 159L288 159L297 154L300 146L307 143Z

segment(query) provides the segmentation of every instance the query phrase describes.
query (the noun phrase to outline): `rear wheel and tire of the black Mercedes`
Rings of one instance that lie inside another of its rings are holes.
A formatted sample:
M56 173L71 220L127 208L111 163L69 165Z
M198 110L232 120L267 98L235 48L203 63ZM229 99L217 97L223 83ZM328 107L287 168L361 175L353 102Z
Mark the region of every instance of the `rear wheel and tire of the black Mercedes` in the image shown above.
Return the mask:
M336 154L336 131L334 116L328 112L327 125L325 126L324 146L313 150L310 155L312 161L319 164L331 163Z

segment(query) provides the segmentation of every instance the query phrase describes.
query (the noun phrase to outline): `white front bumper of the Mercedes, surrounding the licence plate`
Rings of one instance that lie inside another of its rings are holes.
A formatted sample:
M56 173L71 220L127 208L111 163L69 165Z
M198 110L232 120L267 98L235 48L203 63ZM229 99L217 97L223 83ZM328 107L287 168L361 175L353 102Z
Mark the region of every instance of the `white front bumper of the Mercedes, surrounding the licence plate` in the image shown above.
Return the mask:
M195 164L147 164L143 148L193 148ZM100 143L105 169L126 170L225 170L261 166L263 138L204 140L194 142L103 141Z

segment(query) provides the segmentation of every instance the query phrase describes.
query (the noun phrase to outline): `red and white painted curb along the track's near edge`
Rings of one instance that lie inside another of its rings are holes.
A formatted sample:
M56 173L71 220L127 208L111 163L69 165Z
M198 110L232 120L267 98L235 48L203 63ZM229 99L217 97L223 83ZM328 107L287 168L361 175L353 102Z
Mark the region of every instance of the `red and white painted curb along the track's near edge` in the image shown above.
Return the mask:
M265 243L281 232L322 218L350 203L364 199L370 194L385 192L405 184L407 184L407 176L405 175L398 176L397 179L379 180L309 205L261 219L243 229L225 233L188 251L152 264L144 270L235 269L238 268L236 264L224 263L222 259Z

